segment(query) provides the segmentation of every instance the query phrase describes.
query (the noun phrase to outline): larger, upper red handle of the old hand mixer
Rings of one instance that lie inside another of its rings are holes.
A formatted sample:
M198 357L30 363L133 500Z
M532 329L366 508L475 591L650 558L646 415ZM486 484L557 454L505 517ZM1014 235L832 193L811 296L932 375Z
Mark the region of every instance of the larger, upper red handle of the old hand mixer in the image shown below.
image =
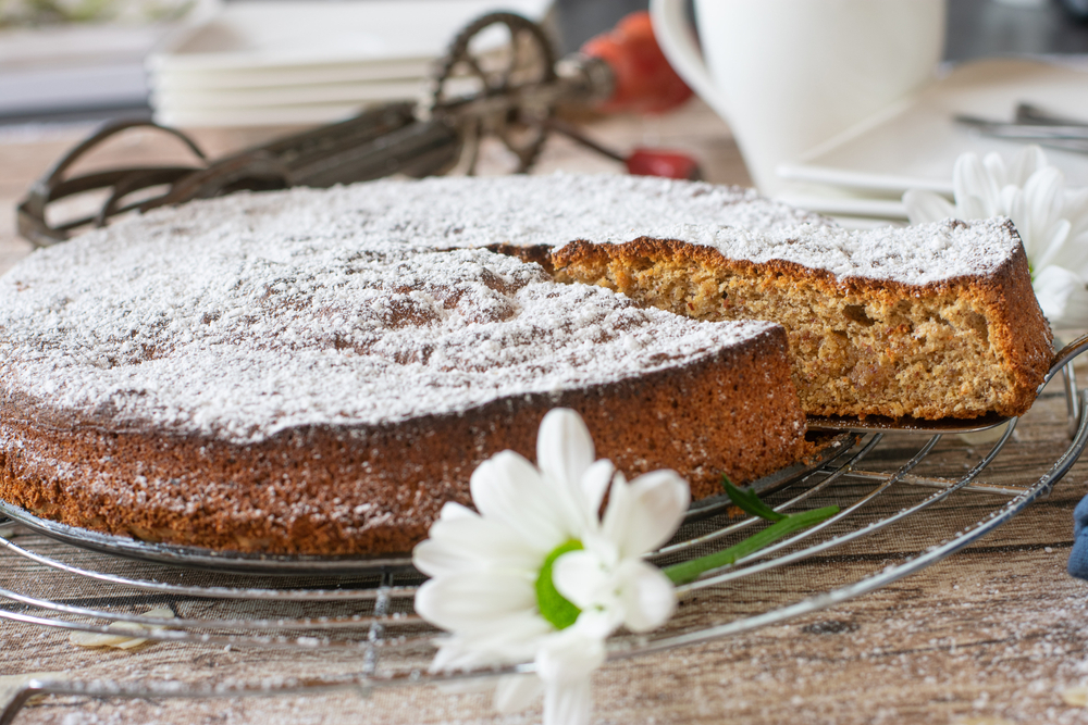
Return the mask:
M608 63L616 77L616 90L601 111L662 113L691 98L691 89L657 45L645 11L631 13L615 29L591 39L582 52Z

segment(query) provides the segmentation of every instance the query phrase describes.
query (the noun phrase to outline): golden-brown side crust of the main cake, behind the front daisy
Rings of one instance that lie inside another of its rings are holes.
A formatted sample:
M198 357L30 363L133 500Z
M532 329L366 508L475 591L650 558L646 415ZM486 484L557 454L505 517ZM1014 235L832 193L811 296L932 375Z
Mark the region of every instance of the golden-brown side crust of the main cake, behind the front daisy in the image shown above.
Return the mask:
M796 461L804 416L786 336L765 333L682 368L463 415L388 426L307 426L239 445L201 436L44 425L0 404L0 498L39 516L148 541L264 553L382 553L421 540L445 501L470 503L474 467L505 449L532 460L555 407L579 411L597 454L633 476L671 467L695 498ZM777 391L777 392L776 392Z

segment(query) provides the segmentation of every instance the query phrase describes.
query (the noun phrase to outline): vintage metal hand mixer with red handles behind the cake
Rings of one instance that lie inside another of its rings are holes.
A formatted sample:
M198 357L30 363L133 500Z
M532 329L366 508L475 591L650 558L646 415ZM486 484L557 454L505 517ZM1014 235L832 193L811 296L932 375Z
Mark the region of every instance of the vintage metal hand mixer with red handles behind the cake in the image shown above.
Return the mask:
M500 50L478 52L478 40L496 27L509 37ZM491 13L466 26L438 61L429 98L363 111L342 123L307 130L209 162L186 134L147 121L110 123L72 149L34 185L18 205L18 232L34 245L63 241L73 230L128 211L147 211L191 199L242 189L292 186L330 187L392 174L412 177L473 174L480 142L498 139L512 159L514 172L536 160L551 133L627 164L632 173L689 178L697 175L688 157L647 149L621 155L583 136L557 115L561 105L605 112L660 112L691 96L654 40L648 15L626 18L581 52L556 61L540 25L512 13ZM183 141L199 163L133 166L81 176L69 168L106 139L128 128L149 126ZM133 201L139 192L165 186L164 192ZM50 224L52 202L108 189L90 216Z

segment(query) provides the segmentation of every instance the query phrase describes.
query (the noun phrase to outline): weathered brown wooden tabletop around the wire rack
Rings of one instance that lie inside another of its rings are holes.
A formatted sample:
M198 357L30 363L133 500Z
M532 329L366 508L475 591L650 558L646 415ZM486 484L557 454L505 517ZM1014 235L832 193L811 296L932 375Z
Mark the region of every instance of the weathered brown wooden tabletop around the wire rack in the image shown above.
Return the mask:
M0 270L27 254L15 238L14 200L87 129L0 130ZM614 118L589 132L618 148L635 143L684 148L710 180L744 183L746 174L728 129L692 103L656 120ZM203 132L222 153L257 139L254 133ZM259 140L259 139L257 139ZM136 134L100 155L98 164L140 158L154 148ZM573 145L549 146L541 170L618 171L617 164ZM1011 463L992 476L1028 483L1065 446L1064 401L1048 392L1024 418ZM892 440L888 448L895 449ZM977 458L972 443L949 437L929 465L961 473ZM707 645L636 658L595 676L595 723L1088 723L1088 710L1066 704L1088 686L1088 583L1065 574L1072 510L1086 492L1088 462L1056 491L981 542L880 591L786 624ZM990 474L988 474L990 475ZM991 477L992 477L991 476ZM965 495L970 496L970 495ZM984 495L979 511L1000 500ZM976 499L969 499L974 501ZM985 501L985 503L984 503ZM969 520L975 513L959 509ZM824 572L849 580L912 553L910 529L869 554L825 562ZM10 559L3 559L5 565ZM20 563L0 574L30 576ZM820 576L824 576L823 574ZM819 583L814 584L819 586ZM94 592L88 591L88 597ZM756 602L758 604L759 602ZM7 603L0 603L7 605ZM271 672L331 666L320 655L152 645L135 651L86 650L66 634L0 623L0 675L66 671L79 679L254 678ZM346 671L354 666L344 664ZM99 701L50 698L18 723L532 723L540 712L499 717L483 695L447 695L417 687L317 698Z

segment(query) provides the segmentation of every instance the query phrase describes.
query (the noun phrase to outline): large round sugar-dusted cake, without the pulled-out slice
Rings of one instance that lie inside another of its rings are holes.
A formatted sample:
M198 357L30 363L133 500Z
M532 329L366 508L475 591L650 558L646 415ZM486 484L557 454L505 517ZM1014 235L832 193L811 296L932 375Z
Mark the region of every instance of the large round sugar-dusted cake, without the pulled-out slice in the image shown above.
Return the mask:
M0 279L0 498L136 538L407 551L504 449L578 410L695 497L796 460L787 338L558 284L484 247L630 240L750 192L627 177L379 182L159 210Z

